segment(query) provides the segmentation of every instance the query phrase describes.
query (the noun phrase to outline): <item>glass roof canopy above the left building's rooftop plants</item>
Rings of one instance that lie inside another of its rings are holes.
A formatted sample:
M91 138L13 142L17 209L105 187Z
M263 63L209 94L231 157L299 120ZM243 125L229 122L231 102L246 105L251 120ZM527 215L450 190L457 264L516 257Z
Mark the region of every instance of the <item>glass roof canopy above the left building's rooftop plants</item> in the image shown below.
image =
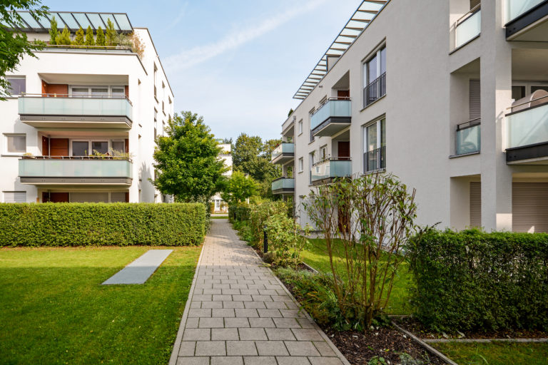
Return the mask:
M24 21L24 26L20 26L19 30L24 32L47 33L53 17L55 17L59 29L64 29L66 26L71 32L76 32L80 27L86 30L88 26L91 26L93 31L96 31L99 26L104 30L108 19L111 19L114 29L120 33L131 33L133 31L126 13L51 11L46 16L39 17L39 21L36 21L29 11L17 11L17 13L21 15Z

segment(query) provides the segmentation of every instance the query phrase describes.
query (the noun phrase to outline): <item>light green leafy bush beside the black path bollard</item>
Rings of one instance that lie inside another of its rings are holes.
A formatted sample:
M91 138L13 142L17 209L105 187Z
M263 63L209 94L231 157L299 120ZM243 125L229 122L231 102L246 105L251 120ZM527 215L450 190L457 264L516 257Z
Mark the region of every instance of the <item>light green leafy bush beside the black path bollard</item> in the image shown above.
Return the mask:
M308 227L301 232L300 225L287 212L272 215L266 220L268 232L268 251L274 254L273 263L279 266L297 267L300 264L300 252L303 252L308 240Z

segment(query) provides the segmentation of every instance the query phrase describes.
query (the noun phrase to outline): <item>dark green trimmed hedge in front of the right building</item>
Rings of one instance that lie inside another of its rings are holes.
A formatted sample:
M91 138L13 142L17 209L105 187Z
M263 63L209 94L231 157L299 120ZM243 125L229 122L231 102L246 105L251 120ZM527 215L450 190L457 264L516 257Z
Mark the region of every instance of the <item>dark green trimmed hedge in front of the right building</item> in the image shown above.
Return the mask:
M547 234L428 230L408 249L427 327L548 331Z

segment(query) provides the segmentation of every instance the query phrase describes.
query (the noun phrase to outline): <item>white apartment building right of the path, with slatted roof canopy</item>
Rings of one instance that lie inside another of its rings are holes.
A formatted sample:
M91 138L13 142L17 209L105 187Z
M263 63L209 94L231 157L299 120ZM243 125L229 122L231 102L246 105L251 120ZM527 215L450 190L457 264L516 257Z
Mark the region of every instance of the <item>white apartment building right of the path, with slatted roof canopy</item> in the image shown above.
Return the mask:
M548 1L362 1L306 78L273 163L314 185L387 171L421 225L548 232Z

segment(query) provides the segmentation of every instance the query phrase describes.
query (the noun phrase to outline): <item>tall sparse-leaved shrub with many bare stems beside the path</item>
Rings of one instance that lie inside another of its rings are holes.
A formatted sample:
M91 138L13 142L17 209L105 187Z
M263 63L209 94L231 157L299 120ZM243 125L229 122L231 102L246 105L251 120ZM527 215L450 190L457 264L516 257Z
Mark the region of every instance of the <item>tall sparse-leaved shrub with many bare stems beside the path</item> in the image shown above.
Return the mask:
M415 190L391 174L336 180L317 187L305 210L325 237L340 312L348 326L368 329L387 307L416 230Z

